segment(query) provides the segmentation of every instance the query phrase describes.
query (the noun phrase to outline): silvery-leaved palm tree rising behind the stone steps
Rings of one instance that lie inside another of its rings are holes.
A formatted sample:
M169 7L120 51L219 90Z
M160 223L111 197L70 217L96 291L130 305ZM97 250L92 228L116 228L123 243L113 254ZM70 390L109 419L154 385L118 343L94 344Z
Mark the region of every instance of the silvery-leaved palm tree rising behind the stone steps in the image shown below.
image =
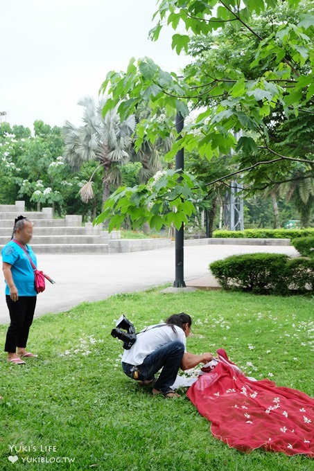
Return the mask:
M121 184L120 166L129 159L127 150L132 143L135 118L129 116L121 123L117 109L103 116L105 100L98 105L86 96L78 102L84 107L83 125L76 127L67 121L63 127L64 157L67 163L78 169L88 160L99 161L87 184L82 186L80 197L88 202L94 197L91 180L98 168L103 169L103 203L110 196L110 184Z

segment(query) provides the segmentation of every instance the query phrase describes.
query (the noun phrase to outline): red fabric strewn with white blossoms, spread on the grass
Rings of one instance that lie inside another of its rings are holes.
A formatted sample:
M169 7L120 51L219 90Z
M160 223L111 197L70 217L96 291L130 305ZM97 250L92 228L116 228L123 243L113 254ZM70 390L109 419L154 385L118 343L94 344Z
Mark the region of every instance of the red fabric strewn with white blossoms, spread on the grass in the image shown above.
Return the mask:
M218 365L187 392L213 436L242 452L262 447L314 457L314 400L270 380L249 380L225 350L217 353Z

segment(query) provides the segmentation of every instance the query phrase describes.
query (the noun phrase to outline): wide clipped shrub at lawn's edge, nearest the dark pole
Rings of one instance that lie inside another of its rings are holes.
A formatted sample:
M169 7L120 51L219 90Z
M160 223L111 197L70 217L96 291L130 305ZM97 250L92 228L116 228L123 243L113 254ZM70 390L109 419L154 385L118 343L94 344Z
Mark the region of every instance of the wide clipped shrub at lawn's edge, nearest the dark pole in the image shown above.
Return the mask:
M245 254L216 260L209 267L225 289L279 293L286 286L287 261L284 254Z

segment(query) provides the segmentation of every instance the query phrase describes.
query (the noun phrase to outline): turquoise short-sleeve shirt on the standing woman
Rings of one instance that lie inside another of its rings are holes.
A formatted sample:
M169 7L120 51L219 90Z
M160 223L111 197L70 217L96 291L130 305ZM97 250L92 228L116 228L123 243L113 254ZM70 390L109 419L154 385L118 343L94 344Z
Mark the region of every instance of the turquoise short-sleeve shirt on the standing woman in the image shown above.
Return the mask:
M28 251L30 258L33 260L34 265L37 267L37 259L33 250L29 245L26 245L25 248ZM19 296L36 296L37 292L35 290L33 267L30 265L30 260L24 250L11 240L5 247L3 247L1 255L3 262L10 263L10 265L12 265L11 273ZM6 294L10 294L10 289L7 283Z

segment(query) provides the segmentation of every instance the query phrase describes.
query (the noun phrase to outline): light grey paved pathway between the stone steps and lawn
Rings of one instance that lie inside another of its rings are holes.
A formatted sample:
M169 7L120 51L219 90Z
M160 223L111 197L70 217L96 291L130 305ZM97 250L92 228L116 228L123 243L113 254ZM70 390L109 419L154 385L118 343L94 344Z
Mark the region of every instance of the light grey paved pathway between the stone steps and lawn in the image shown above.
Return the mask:
M295 248L290 246L187 246L184 247L184 281L207 276L208 265L213 260L258 251L297 255ZM98 301L115 293L173 283L175 279L174 248L127 254L40 254L37 263L39 269L56 283L46 282L46 291L38 295L36 317L47 312L69 310L82 301ZM0 323L8 323L4 286L1 291Z

